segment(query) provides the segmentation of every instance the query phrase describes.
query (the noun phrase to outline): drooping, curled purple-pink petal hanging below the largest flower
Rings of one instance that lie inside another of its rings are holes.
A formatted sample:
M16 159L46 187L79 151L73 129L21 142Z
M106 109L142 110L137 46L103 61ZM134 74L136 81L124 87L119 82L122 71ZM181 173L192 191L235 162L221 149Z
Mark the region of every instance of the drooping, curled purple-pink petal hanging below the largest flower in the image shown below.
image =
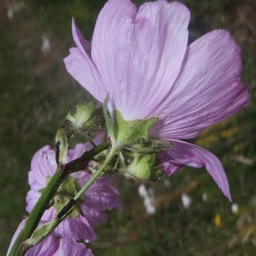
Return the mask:
M172 140L172 148L163 156L166 174L172 175L181 166L194 168L206 168L212 176L218 188L231 201L230 186L225 175L223 166L218 158L204 148L190 143Z

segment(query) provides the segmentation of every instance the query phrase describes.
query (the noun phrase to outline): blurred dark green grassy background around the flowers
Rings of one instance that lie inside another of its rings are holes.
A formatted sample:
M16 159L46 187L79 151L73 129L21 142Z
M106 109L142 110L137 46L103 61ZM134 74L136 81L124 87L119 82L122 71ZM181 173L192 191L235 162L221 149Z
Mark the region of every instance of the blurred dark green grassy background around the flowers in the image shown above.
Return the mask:
M145 1L136 1L137 4ZM26 216L27 172L32 155L54 144L67 112L90 99L66 72L62 59L73 46L71 19L90 39L105 1L1 0L0 2L0 255ZM156 212L149 215L139 184L114 183L122 205L97 228L95 255L254 255L256 251L254 0L184 0L190 11L189 38L228 29L241 45L243 81L251 102L241 113L211 127L195 143L222 160L233 203L205 170L184 168L147 184ZM188 196L185 207L182 198Z

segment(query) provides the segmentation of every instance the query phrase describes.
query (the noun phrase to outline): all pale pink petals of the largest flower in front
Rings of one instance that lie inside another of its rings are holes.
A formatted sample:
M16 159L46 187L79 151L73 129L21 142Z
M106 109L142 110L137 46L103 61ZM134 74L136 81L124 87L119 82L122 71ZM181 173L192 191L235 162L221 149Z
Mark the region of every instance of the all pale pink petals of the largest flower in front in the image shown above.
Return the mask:
M178 167L206 167L230 199L218 158L180 139L198 136L248 102L241 83L239 46L229 32L214 30L188 44L189 9L159 0L140 9L130 0L109 0L90 44L73 22L76 48L65 59L67 71L108 110L126 120L158 118L153 138L172 142L164 156L166 173ZM168 167L168 168L167 168Z

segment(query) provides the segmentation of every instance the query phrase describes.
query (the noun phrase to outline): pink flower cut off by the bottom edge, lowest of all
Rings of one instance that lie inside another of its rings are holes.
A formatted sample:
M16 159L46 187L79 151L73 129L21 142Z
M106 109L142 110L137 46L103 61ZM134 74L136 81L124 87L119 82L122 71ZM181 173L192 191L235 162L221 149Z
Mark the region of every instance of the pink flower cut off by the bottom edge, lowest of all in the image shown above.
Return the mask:
M16 237L19 235L20 230L26 224L26 218L23 219L15 231L12 241L10 242L9 250L13 246ZM9 250L7 255L9 254ZM90 249L86 248L84 243L75 241L72 236L65 236L61 238L50 234L45 240L37 246L30 248L26 256L61 256L61 255L76 255L76 256L93 256Z

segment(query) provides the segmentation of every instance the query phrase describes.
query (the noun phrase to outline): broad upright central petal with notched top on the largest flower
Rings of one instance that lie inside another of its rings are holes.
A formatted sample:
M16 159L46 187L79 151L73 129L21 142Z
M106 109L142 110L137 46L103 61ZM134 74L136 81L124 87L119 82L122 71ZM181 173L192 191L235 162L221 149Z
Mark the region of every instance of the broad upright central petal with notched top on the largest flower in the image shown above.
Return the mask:
M125 119L152 116L182 65L189 10L182 3L109 0L96 21L91 55Z

